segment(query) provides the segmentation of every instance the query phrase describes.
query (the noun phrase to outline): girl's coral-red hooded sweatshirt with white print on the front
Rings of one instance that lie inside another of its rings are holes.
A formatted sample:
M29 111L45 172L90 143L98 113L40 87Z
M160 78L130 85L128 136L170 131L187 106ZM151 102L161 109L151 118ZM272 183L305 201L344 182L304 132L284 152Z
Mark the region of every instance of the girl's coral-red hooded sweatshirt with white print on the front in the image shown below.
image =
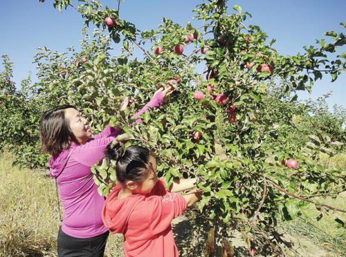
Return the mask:
M151 193L118 200L121 184L109 193L102 220L111 234L124 234L125 257L177 257L171 222L187 209L186 200L158 180Z

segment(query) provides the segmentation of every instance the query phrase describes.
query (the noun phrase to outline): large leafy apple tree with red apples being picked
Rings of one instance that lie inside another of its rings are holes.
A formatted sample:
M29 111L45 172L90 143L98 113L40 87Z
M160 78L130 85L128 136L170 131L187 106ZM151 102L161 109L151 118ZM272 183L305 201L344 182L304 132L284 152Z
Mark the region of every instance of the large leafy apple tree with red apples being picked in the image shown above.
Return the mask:
M98 1L81 1L73 7L86 25L92 22L100 30L91 42L83 30L80 53L41 48L35 56L37 97L46 99L47 108L76 105L95 132L107 124L122 127L123 137L131 139L127 144L142 144L156 153L158 174L167 184L174 178L199 178L197 187L204 191L200 215L215 226L215 252L208 254L223 254L223 228L237 221L235 226L262 236L247 238L249 253L271 249L280 256L278 218L307 215L309 204L336 209L315 199L345 190L345 171L313 163L301 151L302 142L285 143L283 131L291 125L280 123L277 105L266 99L271 94L284 110L284 101L295 102L297 91L311 91L323 73L337 79L346 70L346 53L333 60L327 54L346 44L342 33L326 32L327 38L318 47L305 47L304 55L282 56L259 26L244 25L250 14L239 6L228 14L224 0L193 10L193 18L202 23L199 28L163 18L157 30L146 31L120 20L117 10ZM56 0L54 6L61 11L72 1ZM122 42L116 57L109 54L111 40ZM142 60L131 59L135 50L143 51ZM198 72L195 68L201 65L205 69ZM280 85L277 92L273 84ZM168 102L143 113L145 124L134 124L131 114L167 86L174 90ZM120 112L123 97L130 97L131 105ZM328 144L342 146L338 141ZM289 159L298 166L288 164ZM107 196L112 167L100 164L93 171L100 193Z

